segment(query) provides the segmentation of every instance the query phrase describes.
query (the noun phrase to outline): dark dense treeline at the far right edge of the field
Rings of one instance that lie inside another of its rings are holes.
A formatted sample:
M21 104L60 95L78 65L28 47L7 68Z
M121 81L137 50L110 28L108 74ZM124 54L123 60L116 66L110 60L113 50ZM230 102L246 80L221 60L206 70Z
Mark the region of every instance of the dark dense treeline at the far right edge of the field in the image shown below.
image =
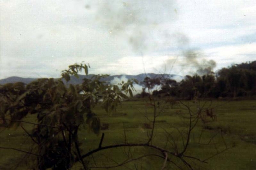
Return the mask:
M175 98L236 98L256 96L256 61L234 64L208 75L187 75L181 82L172 79L144 79L144 86L153 89L161 85L160 90L153 90L155 96ZM144 88L138 97L147 96Z

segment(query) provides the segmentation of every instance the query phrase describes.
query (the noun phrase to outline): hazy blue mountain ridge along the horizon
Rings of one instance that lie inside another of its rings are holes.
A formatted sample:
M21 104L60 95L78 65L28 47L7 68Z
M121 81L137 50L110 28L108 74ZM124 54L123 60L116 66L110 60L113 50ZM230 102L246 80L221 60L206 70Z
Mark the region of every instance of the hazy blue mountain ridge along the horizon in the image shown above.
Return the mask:
M147 77L150 77L150 78L170 78L170 79L174 79L174 80L182 79L182 76L179 76L179 75L154 74L154 73L148 73L146 75L147 75ZM139 84L141 84L143 82L144 78L146 77L146 75L145 74L110 75L109 77L102 78L102 81L110 82L110 81L114 80L114 78L120 79L120 80L135 78L138 80ZM81 84L84 78L90 79L92 76L94 76L94 75L79 75L79 78L71 76L71 79L69 82L66 82L64 79L63 79L63 82L65 84ZM37 78L9 77L9 78L5 78L5 79L1 79L0 84L15 83L15 82L23 82L25 84L29 84L30 82L35 81L35 80L37 80Z

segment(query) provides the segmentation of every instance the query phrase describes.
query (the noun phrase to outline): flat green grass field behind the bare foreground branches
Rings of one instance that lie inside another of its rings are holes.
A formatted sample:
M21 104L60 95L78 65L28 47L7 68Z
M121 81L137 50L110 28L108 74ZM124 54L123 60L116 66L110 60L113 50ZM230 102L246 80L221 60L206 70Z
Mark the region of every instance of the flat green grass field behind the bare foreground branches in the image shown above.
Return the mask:
M200 102L201 105L204 102ZM188 101L184 101L188 104ZM193 103L190 102L191 108ZM194 156L200 159L206 159L210 156L218 155L207 160L206 163L199 161L189 161L194 169L201 170L255 170L256 169L256 101L207 101L206 106L216 108L215 114L218 121L203 123L200 121L197 127L191 133L190 144L186 155ZM161 110L162 105L159 105ZM102 146L109 144L120 144L124 142L126 136L127 141L131 143L144 143L147 141L147 125L152 127L150 121L153 120L153 108L146 105L143 100L125 101L118 108L117 114L108 115L103 109L95 108L94 112L100 117L102 124L109 124L107 130L102 130L105 133L105 138ZM159 112L158 112L159 113ZM36 118L30 116L26 121L35 122ZM187 130L188 126L188 111L184 107L179 108L174 105L164 109L156 118L156 129L153 137L153 144L168 150L174 150L174 142L178 148L182 148L182 137L179 131ZM146 124L146 125L145 125ZM22 124L26 130L32 129L31 124ZM178 131L179 130L179 131ZM19 150L30 151L33 147L33 142L26 137L26 133L21 127L16 130L0 130L0 147L12 147ZM222 133L221 133L222 132ZM124 135L125 134L125 135ZM222 134L222 135L221 135ZM169 138L167 139L167 136ZM81 129L79 132L79 140L82 145L83 153L89 150L96 149L100 142L100 135L94 135L87 129ZM213 138L214 137L214 138ZM223 140L224 139L224 140ZM220 153L226 147L230 148L223 153ZM95 153L93 157L86 159L90 167L111 166L115 162L121 163L129 153L133 158L144 154L158 153L156 150L146 147L133 148L114 148L103 150ZM172 161L180 166L182 163L175 157L169 157ZM34 156L28 156L26 153L21 153L17 150L0 149L0 170L24 169L26 164L31 160L36 160ZM144 169L158 170L161 169L164 160L157 157L145 157L132 161L125 166L110 168L116 170L124 169ZM79 170L81 164L77 163L72 168ZM182 169L185 169L182 166ZM101 168L104 169L104 168ZM177 169L174 164L169 164L166 169Z

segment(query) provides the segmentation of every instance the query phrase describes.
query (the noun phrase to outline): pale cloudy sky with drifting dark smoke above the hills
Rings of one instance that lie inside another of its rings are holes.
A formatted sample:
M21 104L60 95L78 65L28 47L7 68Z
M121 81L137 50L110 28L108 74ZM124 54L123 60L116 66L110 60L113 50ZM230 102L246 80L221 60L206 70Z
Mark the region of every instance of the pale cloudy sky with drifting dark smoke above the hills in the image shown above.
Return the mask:
M255 0L1 0L0 79L203 74L256 60Z

